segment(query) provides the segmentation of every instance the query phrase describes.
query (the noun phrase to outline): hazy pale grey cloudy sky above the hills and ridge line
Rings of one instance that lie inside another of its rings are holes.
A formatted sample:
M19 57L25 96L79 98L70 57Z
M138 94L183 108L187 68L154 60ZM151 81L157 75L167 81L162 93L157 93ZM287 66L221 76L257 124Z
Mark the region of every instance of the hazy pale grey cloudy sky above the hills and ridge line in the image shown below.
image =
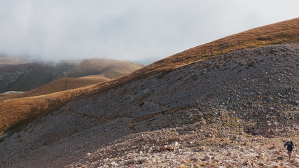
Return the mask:
M298 0L0 0L0 53L151 63L299 17Z

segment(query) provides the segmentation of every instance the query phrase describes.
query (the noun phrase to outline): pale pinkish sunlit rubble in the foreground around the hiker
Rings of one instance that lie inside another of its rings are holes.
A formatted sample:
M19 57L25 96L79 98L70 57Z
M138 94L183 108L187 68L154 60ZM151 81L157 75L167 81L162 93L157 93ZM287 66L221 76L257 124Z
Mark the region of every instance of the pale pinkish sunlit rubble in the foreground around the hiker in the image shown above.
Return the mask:
M87 153L68 167L299 167L298 151L288 159L285 138L198 127L200 123L133 134ZM182 129L192 131L180 134Z

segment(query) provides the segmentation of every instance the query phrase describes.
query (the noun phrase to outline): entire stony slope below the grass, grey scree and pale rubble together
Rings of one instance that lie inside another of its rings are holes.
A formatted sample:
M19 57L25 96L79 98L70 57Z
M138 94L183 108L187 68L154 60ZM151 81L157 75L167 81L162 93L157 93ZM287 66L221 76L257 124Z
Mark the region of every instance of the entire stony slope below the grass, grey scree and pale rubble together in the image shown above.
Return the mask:
M298 167L298 64L238 50L76 99L4 134L0 167Z

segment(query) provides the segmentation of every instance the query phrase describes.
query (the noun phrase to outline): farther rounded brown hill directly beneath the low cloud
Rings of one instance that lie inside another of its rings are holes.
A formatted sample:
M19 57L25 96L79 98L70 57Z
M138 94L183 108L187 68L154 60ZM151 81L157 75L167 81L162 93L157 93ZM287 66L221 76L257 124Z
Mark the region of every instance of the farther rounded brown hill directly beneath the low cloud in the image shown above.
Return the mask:
M91 80L91 76L103 76L104 78L112 79L140 69L141 67L143 67L141 64L113 59L83 59L62 61L59 63L34 62L0 66L0 92L24 92L33 90L60 78L90 76L88 78L76 79L81 81L81 85L77 86L85 86L83 81L86 81L86 84L92 83L91 81L102 81L102 79L98 80L99 78L97 77ZM57 88L54 90L57 90ZM58 90L61 91L65 89L60 88Z

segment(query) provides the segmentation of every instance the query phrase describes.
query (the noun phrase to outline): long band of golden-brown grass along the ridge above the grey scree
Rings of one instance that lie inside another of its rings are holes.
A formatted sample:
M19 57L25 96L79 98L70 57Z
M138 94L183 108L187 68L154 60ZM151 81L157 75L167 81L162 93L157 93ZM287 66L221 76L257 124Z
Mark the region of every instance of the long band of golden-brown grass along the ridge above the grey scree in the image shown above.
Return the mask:
M39 97L10 99L0 102L0 134L14 125L32 120L41 113L49 113L58 109L71 99L81 95L97 94L111 87L124 85L135 78L144 78L153 73L172 71L186 64L199 62L202 59L215 57L225 52L279 43L299 43L299 18L251 29L190 48L171 57L161 59L127 76L109 80L108 82ZM47 99L50 99L50 101Z

